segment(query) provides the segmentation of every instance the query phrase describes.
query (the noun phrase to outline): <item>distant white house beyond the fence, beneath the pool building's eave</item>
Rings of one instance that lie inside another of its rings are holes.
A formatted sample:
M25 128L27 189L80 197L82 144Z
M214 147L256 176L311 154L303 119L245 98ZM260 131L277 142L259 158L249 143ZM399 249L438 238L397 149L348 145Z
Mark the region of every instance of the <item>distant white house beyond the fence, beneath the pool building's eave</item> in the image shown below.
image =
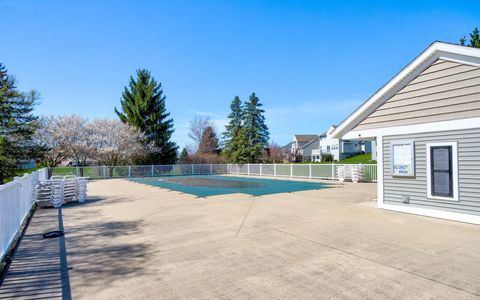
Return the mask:
M330 154L334 161L340 161L353 155L372 152L372 143L363 140L344 140L332 135L336 126L331 126L327 132L320 135L320 159L322 155ZM372 157L375 160L375 157Z

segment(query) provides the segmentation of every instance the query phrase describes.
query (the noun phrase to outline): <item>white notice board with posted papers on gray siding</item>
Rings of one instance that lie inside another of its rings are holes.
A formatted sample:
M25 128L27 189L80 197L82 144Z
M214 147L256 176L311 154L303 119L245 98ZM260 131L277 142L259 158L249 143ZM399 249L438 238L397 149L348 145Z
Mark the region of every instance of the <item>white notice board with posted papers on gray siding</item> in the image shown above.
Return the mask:
M415 144L412 141L395 141L391 147L391 171L395 177L415 176Z

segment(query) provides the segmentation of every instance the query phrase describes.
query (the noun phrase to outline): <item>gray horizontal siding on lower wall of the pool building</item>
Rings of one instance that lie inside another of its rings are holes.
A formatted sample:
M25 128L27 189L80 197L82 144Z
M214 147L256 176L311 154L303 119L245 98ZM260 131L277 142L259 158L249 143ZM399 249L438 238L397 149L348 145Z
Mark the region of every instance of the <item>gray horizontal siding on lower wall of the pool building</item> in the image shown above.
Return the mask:
M391 175L390 145L396 140L415 142L415 177L399 178ZM457 142L459 201L427 199L426 144ZM400 136L385 136L384 203L480 215L480 128ZM410 204L402 203L402 196L410 197Z

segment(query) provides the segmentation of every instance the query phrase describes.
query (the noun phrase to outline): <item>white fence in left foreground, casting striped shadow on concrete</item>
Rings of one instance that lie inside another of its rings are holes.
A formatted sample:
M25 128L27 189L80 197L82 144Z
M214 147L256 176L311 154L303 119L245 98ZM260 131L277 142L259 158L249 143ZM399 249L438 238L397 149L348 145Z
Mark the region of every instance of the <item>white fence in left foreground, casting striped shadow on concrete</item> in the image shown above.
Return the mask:
M34 204L35 185L47 176L48 169L43 168L0 185L0 260L20 235L21 226Z

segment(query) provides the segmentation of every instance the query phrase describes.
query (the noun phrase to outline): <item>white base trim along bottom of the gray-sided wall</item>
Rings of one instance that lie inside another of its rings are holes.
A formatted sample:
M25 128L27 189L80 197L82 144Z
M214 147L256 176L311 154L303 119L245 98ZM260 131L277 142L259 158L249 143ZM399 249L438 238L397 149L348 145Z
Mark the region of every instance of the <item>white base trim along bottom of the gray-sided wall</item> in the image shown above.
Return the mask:
M436 209L393 205L393 204L382 204L382 205L379 205L378 208L480 225L480 216L476 216L476 215L467 215L467 214L461 214L461 213L455 213L455 212L441 211Z

